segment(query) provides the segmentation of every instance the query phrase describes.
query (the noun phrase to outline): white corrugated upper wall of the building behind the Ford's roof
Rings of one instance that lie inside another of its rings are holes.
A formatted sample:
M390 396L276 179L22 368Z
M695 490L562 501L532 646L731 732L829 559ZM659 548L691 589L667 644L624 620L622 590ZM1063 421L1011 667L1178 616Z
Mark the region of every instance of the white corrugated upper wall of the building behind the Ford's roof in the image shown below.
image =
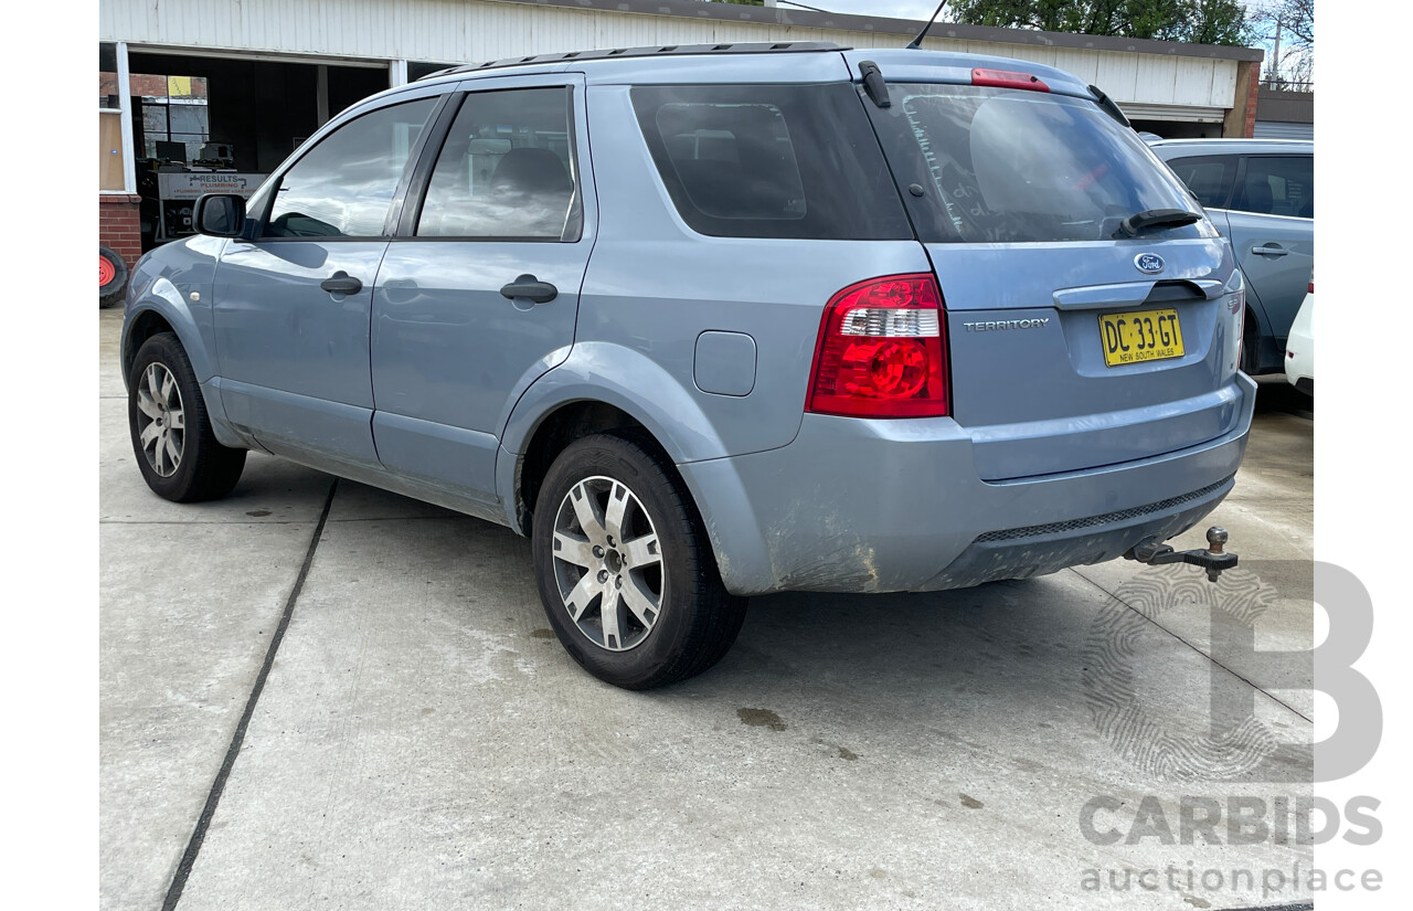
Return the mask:
M497 0L102 0L99 37L133 45L448 64L664 44L904 44L899 35L868 31ZM1236 92L1236 61L1229 59L958 41L945 32L930 37L927 47L1060 66L1101 86L1121 105L1226 109Z

